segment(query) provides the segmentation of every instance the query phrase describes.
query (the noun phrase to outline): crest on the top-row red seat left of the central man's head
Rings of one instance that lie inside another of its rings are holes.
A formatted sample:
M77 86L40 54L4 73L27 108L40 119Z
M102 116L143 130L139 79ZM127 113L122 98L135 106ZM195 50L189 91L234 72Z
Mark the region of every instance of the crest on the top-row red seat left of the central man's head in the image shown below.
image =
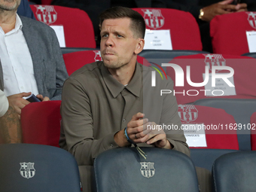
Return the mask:
M53 6L50 5L35 5L36 16L38 20L47 25L54 23L57 20L57 12L54 10Z

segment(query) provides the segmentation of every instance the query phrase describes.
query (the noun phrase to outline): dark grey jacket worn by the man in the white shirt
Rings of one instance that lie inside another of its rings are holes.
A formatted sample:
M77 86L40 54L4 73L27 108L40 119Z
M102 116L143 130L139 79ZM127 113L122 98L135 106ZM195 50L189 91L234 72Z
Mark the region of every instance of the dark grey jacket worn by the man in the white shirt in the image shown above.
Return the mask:
M61 100L62 86L69 75L55 32L50 26L39 21L27 17L20 19L23 23L23 35L32 57L38 92L51 100ZM0 89L4 89L2 65L0 65Z

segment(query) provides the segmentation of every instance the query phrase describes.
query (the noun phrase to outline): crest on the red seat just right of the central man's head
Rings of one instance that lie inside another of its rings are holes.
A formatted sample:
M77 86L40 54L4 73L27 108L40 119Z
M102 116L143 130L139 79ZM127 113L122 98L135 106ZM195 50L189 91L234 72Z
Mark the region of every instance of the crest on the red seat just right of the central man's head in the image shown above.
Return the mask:
M164 24L164 17L160 9L142 9L146 26L159 29Z

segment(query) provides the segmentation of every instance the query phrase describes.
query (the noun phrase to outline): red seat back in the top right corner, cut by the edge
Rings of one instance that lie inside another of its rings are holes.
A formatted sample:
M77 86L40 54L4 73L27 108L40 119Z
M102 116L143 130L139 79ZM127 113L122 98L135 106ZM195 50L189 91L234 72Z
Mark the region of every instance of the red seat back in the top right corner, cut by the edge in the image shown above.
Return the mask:
M256 12L239 12L214 17L210 23L213 53L242 55L248 53L246 31L256 29L255 18L250 14Z

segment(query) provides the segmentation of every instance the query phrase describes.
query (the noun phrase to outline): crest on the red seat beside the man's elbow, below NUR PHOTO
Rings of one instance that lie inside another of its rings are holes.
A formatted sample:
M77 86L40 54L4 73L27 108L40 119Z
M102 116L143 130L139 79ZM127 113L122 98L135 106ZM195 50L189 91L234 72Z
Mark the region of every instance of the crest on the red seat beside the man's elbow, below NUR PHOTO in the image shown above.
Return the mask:
M178 105L178 116L189 123L197 119L198 111L194 105Z

